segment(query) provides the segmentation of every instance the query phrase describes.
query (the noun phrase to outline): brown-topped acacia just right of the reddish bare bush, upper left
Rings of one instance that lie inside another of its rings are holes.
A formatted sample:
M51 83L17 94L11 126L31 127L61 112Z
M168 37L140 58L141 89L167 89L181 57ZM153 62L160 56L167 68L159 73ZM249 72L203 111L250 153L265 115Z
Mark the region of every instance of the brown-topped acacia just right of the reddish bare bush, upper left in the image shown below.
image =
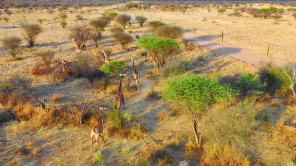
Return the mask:
M94 28L96 34L93 35L93 41L95 44L95 47L98 47L97 40L100 40L102 37L102 32L105 31L105 27L110 23L107 19L94 19L90 21L90 26Z

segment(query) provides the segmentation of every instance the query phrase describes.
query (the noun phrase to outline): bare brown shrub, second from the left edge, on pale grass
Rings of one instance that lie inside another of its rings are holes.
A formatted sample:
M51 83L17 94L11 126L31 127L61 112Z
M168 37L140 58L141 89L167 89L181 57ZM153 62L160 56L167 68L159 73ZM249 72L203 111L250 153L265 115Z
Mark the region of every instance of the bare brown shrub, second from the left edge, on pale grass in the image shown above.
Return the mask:
M33 47L36 36L42 32L42 28L38 24L21 24L21 27L26 33L25 39L28 41L29 46Z

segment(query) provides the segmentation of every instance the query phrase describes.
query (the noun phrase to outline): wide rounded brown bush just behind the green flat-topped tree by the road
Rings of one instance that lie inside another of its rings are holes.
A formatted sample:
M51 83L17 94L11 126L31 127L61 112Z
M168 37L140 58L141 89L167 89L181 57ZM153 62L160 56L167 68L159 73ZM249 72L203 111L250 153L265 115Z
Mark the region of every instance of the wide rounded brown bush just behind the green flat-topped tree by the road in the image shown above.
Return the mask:
M171 39L179 38L183 35L182 28L177 26L163 25L157 28L156 35Z

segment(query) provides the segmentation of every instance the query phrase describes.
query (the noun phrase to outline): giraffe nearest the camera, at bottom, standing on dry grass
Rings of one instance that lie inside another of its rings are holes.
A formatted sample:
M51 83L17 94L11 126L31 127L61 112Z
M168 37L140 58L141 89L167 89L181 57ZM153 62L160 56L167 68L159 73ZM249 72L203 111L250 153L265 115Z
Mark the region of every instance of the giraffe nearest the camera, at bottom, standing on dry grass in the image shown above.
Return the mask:
M105 116L105 110L106 107L101 108L100 110L102 111L101 115L98 117L96 124L92 127L92 131L91 131L91 145L96 142L97 146L98 146L98 150L101 153L101 149L99 146L99 138L101 137L103 142L106 144L105 139L103 137L103 127L104 127L104 116ZM93 141L93 138L95 139L95 141ZM92 148L91 148L92 151Z

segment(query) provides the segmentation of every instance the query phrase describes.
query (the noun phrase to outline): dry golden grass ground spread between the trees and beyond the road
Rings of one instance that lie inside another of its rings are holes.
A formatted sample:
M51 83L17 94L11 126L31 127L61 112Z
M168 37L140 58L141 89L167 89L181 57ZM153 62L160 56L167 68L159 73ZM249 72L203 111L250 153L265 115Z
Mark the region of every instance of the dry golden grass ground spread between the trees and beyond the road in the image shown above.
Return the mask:
M264 6L271 5L264 4ZM40 50L53 50L56 52L55 57L60 58L58 48L61 47L62 58L68 62L74 61L76 55L74 45L69 39L69 28L78 24L88 25L90 20L100 17L105 10L117 12L114 10L116 7L117 5L83 7L79 10L71 8L73 12L67 13L66 28L60 26L61 18L57 17L59 13L57 11L54 14L47 14L45 10L31 12L25 10L23 12L20 9L12 8L13 14L8 17L9 20L7 22L0 20L1 38L11 35L23 36L24 32L20 24L38 23L37 19L43 20L41 24L43 31L37 36L37 44L33 48L27 48L26 41L22 40L19 60L11 60L7 52L0 48L0 81L16 75L28 77L33 81L34 95L40 99L50 97L48 103L51 105L59 106L70 102L83 104L84 100L89 97L91 101L97 102L100 106L106 106L107 111L113 110L112 98L118 85L116 81L102 89L98 87L100 80L90 83L86 78L70 78L64 82L53 82L46 76L34 76L31 74L31 70L36 63L35 53ZM293 37L296 33L293 28L296 20L293 17L288 14L284 15L279 24L274 24L272 19L246 17L248 14L245 13L243 13L243 17L229 17L226 14L232 13L231 10L228 9L220 16L218 16L216 9L212 9L211 12L206 9L198 9L196 12L188 12L185 15L179 11L155 12L152 9L146 12L131 10L121 13L133 16L133 12L136 12L138 15L147 16L148 20L150 15L152 15L152 19L159 16L164 20L174 20L178 22L177 25L184 25L184 27L187 24L198 27L202 25L204 29L237 34L245 38L258 38L262 42L273 42L283 48L295 49L291 47L296 40ZM81 11L84 11L84 14ZM77 20L76 15L81 15L84 19ZM203 21L203 17L206 17L207 21ZM192 20L194 23L191 23ZM126 61L130 68L132 66L130 57L134 57L135 67L140 75L140 91L137 92L134 82L131 83L131 89L123 91L126 98L126 108L122 109L122 112L141 117L147 130L140 139L107 134L107 145L101 146L105 156L103 164L141 165L142 163L143 165L144 163L145 165L149 161L153 165L178 165L181 161L186 160L189 165L295 165L293 164L296 163L295 127L287 128L284 124L287 121L296 124L296 107L289 104L289 98L286 95L275 94L272 97L268 95L264 97L263 95L263 97L257 97L258 99L248 99L248 102L252 103L252 109L256 112L257 126L244 140L244 149L247 150L235 152L238 149L224 147L223 150L212 155L215 157L211 158L208 149L195 146L190 121L183 112L184 107L158 97L148 97L152 89L160 91L164 76L162 72L154 69L151 59L147 61L146 56L141 55L144 50L137 47L136 44L135 35L143 36L144 33L147 33L147 24L140 27L134 23L132 27L126 27L125 32L132 31L131 36L134 37L127 50L122 50L121 46L111 38L109 29L116 24L115 21L111 21L106 31L102 33L103 37L98 41L99 46L95 50L111 49L110 59ZM181 39L177 40L181 41ZM83 55L90 56L92 59L92 48L94 48L93 42L88 41ZM259 66L252 66L225 55L217 55L207 48L198 46L193 51L185 51L182 46L180 52L169 62L176 63L175 59L186 62L187 72L205 74L214 79L244 72L259 72ZM294 59L289 58L288 60L293 61ZM34 104L37 105L37 103ZM11 108L2 106L1 109L4 112ZM223 104L217 104L211 111L209 116L219 121L221 119L219 117L217 119L215 115L224 117L225 107ZM227 118L225 117L225 119ZM37 128L32 127L31 122L26 120L10 121L0 126L0 165L93 164L92 159L95 152L90 151L90 130L93 121L85 123L82 127L60 122L54 126L44 125ZM223 128L223 125L229 122L231 119L227 119L226 122L220 121L217 124ZM212 124L209 123L209 125ZM211 127L205 124L205 145L208 145L206 144L207 140L211 139ZM212 129L212 132L219 131ZM219 146L219 142L217 142L217 146ZM233 151L231 152L231 150Z

